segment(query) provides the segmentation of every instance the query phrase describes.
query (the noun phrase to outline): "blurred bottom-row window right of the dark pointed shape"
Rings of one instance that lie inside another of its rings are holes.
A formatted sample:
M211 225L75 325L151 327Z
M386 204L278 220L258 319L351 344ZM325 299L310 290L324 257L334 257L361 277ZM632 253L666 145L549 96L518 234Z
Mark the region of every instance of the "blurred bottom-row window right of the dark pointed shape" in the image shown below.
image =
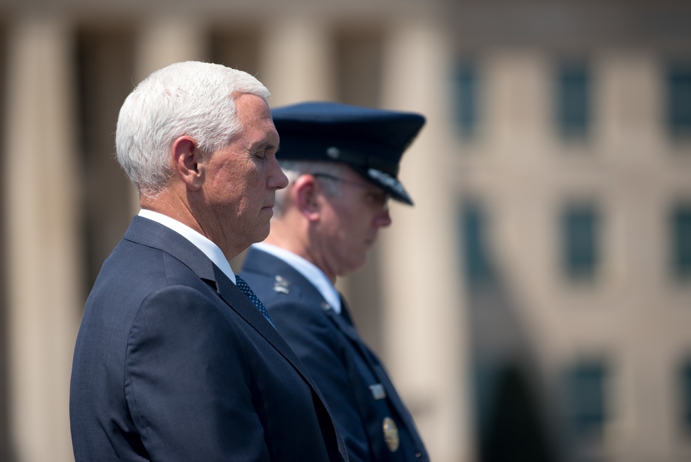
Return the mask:
M599 361L581 362L567 371L567 415L578 436L602 436L607 420L607 370Z

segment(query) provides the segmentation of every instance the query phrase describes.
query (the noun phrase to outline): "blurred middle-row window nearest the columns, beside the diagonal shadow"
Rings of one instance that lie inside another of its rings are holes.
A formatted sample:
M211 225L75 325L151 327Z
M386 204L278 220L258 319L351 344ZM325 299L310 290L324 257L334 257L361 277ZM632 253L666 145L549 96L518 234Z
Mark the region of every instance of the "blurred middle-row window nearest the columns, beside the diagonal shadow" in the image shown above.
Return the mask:
M473 203L464 205L461 214L466 277L471 283L491 279L484 213L480 205Z

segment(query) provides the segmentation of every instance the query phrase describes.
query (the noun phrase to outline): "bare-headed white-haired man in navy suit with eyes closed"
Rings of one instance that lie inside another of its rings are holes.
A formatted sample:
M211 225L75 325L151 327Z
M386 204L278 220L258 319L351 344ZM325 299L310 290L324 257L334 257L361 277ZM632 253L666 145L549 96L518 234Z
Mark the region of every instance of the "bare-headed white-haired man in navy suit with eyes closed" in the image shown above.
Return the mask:
M84 308L77 462L348 460L303 364L229 265L267 236L287 185L267 96L247 73L186 62L122 105L117 159L142 210Z

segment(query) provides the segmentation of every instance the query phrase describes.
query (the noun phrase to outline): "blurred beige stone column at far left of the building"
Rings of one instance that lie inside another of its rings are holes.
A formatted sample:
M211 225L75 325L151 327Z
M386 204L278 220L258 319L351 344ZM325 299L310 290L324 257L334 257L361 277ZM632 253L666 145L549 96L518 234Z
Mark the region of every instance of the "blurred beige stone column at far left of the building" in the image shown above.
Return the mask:
M3 155L10 427L17 461L73 461L68 396L79 313L79 156L72 35L18 19L8 41Z

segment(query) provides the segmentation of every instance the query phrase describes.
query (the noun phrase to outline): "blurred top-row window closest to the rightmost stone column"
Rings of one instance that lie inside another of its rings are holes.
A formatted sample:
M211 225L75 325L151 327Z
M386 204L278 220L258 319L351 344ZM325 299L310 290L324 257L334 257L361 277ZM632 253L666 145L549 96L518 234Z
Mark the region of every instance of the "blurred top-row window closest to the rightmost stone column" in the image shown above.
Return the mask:
M461 135L467 138L474 136L477 129L477 86L473 62L459 62L453 75L454 119Z

